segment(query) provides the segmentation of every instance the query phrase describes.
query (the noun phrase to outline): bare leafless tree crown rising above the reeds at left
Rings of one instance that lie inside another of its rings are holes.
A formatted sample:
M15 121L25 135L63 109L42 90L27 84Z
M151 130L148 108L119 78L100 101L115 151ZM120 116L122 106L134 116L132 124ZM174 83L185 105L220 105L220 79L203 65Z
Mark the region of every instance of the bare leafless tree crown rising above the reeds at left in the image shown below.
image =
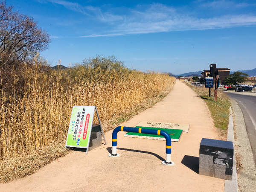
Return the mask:
M50 35L33 18L0 4L0 67L24 61L36 52L48 49Z

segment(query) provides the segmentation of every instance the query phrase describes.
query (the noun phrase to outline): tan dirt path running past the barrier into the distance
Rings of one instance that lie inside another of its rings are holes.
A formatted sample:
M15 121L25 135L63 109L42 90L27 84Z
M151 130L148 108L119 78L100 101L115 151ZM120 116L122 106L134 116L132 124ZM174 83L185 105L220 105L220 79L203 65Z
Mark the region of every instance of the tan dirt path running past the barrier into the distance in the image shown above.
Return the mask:
M224 192L224 181L198 175L201 139L219 139L204 101L185 84L176 81L163 101L134 116L124 126L140 121L190 124L189 132L172 142L172 161L164 166L166 142L117 136L117 152L111 158L111 134L107 145L84 152L73 151L40 169L34 175L6 184L1 192Z

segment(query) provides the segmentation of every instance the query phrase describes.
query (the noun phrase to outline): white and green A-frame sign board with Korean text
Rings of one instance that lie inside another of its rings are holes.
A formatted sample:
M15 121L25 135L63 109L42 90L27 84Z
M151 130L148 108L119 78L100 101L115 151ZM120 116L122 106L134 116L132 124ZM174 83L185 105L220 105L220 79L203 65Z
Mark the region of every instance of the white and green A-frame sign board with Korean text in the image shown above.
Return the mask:
M98 119L99 113L96 106L74 106L70 118L70 125L67 133L67 147L85 148L88 153L90 135L93 126L93 116L96 111ZM99 119L101 132L106 143L105 135Z

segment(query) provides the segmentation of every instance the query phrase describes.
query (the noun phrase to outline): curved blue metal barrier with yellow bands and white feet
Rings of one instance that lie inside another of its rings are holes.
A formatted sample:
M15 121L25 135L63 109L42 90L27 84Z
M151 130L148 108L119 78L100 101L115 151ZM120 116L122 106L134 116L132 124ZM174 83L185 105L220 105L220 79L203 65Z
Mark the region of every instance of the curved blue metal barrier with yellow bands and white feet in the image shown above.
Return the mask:
M162 135L166 138L166 160L162 163L164 165L172 166L175 163L171 161L171 153L172 153L172 140L166 131L155 130L155 129L145 129L145 128L133 128L133 127L124 127L119 126L113 130L112 133L112 154L109 154L109 157L119 157L120 154L116 153L116 145L117 145L117 133L119 131L127 131L134 133L143 133L143 134L153 134L153 135Z

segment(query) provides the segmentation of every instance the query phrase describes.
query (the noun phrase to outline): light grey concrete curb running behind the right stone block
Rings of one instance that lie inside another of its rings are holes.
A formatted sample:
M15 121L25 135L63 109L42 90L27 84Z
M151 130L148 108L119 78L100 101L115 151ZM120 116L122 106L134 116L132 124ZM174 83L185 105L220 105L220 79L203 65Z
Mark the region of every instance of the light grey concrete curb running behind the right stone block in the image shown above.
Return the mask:
M227 130L227 141L233 142L234 157L233 157L233 177L232 180L225 180L224 192L238 192L237 174L236 174L236 154L235 154L235 139L234 139L234 127L233 127L233 113L230 107L230 118Z

